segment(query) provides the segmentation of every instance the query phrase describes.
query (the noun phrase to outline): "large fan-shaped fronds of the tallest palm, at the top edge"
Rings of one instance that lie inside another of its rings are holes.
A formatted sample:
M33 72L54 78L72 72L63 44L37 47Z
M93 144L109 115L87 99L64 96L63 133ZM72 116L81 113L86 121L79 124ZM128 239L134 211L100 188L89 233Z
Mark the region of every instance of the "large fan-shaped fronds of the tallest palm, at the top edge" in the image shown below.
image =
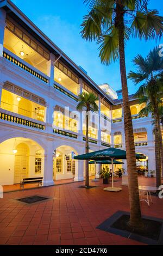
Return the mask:
M163 19L157 10L148 10L147 0L84 0L84 3L89 13L83 18L81 34L87 41L97 41L103 64L118 59L118 34L122 27L126 41L130 36L149 40L163 34Z

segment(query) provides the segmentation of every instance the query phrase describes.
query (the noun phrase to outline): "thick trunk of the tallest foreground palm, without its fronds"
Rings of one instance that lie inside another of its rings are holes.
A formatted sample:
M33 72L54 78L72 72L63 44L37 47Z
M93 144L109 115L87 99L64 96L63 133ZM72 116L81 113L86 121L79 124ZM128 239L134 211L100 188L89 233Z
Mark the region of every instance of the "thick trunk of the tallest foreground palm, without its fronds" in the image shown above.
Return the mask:
M121 8L121 7L119 7ZM135 143L133 135L133 123L128 99L127 74L124 52L124 17L122 10L118 11L119 32L119 51L120 51L120 71L123 95L123 112L124 112L124 132L126 141L127 171L128 171L128 189L130 202L130 221L129 225L133 228L142 228L141 208L139 199L139 185L136 171Z

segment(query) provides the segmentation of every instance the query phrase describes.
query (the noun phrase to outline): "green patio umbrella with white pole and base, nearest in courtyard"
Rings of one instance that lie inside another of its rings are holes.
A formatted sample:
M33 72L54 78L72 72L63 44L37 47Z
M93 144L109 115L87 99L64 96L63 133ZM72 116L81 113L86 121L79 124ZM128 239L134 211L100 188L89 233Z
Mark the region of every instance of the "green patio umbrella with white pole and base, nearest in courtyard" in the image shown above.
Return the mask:
M145 159L146 157L141 154L136 154L136 159ZM103 161L103 160L111 160L112 164L112 187L104 188L104 190L118 192L122 190L122 188L114 188L114 178L113 178L113 164L114 160L118 159L126 159L126 151L122 149L109 148L102 149L95 152L74 156L74 159L77 160L94 160L94 161Z

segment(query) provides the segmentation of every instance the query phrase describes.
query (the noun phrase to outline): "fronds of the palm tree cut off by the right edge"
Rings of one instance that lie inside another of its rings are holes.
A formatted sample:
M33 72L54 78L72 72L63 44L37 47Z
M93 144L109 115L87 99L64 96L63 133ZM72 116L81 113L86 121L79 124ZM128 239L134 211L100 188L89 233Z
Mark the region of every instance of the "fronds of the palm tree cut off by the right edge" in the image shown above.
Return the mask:
M154 111L153 101L156 99L159 106L160 117L162 114L162 97L163 97L163 58L159 57L159 47L155 47L149 52L146 58L140 54L137 55L133 63L136 67L136 72L130 71L128 78L134 84L143 84L135 93L135 98L139 99L139 103L145 103L145 107L141 109L140 115L148 114Z

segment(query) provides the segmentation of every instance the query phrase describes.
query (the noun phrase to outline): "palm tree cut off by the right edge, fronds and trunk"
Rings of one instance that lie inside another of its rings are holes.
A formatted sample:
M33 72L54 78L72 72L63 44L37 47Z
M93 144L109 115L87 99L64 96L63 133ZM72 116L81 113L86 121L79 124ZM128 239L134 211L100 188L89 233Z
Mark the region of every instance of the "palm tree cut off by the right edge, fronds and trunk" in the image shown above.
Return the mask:
M146 103L145 108L140 111L140 114L153 113L157 187L161 185L161 166L163 169L163 147L160 126L160 111L163 97L160 73L163 71L163 59L159 57L158 52L159 48L155 47L146 58L138 54L133 60L136 72L130 71L128 75L128 78L134 84L143 83L135 94L140 103Z

